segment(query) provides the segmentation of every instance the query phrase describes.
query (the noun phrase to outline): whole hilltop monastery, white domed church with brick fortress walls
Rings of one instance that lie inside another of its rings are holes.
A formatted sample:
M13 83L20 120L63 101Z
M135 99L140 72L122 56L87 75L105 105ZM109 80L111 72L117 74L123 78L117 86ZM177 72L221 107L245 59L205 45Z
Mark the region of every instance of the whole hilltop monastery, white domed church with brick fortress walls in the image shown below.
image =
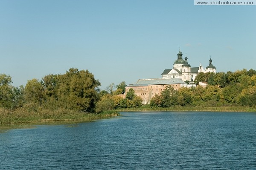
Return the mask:
M136 83L128 84L125 87L125 94L132 88L135 94L143 99L143 104L149 104L150 99L155 95L160 95L166 86L171 85L175 90L179 90L181 87L196 86L193 81L200 72L216 73L216 67L212 65L211 58L206 69L201 64L199 67L191 67L188 58L185 57L184 59L182 58L182 52L179 51L177 60L173 63L173 68L165 69L162 78L139 79ZM185 81L189 81L190 84Z

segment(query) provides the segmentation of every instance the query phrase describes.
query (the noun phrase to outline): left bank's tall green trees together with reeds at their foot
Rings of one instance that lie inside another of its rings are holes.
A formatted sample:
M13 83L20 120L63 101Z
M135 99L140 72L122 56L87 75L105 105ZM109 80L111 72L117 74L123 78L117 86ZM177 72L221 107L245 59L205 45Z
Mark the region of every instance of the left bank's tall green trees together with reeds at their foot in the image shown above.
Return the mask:
M0 124L41 121L91 121L118 115L95 112L100 83L88 70L71 68L64 75L46 75L14 87L9 75L0 74Z

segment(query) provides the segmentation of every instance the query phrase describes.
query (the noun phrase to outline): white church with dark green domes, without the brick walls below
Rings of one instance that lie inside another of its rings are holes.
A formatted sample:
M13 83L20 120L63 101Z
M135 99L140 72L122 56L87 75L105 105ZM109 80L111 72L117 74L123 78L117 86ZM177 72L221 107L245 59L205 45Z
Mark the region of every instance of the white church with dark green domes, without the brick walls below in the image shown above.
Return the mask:
M183 60L182 52L179 51L177 60L173 63L173 69L165 69L162 73L162 78L179 78L182 81L194 81L200 72L216 73L216 67L212 65L212 59L210 58L209 66L206 69L201 64L199 67L191 67L188 63L188 58L185 57L185 60Z

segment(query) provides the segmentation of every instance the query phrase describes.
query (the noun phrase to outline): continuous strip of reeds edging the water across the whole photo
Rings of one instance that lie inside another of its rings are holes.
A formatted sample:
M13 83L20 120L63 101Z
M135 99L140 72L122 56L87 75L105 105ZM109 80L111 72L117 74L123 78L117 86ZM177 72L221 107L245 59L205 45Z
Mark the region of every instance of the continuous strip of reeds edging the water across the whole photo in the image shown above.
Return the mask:
M145 112L145 111L198 111L198 112L256 112L252 107L169 107L169 108L125 108L105 111L99 114L77 112L73 110L57 109L57 110L37 110L29 112L28 110L6 110L0 109L0 127L9 125L38 125L38 124L65 124L78 122L91 122L102 118L111 118L120 115L120 112Z

